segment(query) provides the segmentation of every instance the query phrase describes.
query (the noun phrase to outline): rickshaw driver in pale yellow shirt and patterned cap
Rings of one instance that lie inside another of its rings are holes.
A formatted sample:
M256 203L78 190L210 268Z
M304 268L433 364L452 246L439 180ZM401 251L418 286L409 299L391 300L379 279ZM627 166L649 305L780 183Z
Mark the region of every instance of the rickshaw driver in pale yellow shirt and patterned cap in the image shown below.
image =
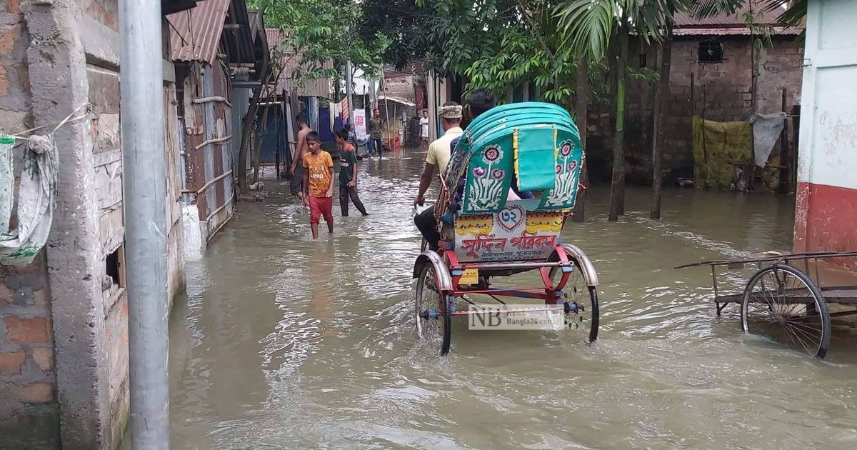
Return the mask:
M440 126L443 127L446 133L428 146L426 165L423 168L423 175L420 176L420 190L417 198L414 199L415 206L422 205L425 201L423 195L428 190L428 186L431 186L434 173L446 170L446 165L449 163L452 140L464 134L464 130L460 127L461 117L461 105L458 105L458 103L446 102L440 107ZM428 248L436 251L437 243L440 240L440 233L437 231L437 221L434 219L434 206L428 207L422 213L417 214L414 217L414 223L417 224L417 228L423 233L426 241L428 241Z

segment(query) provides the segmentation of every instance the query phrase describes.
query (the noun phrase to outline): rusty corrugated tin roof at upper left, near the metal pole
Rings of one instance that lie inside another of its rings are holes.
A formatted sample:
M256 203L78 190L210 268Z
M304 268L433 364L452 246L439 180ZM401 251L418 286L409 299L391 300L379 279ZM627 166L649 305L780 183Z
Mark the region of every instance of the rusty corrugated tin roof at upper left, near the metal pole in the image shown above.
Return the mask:
M220 35L231 0L202 0L196 8L167 15L174 61L205 61L217 58Z

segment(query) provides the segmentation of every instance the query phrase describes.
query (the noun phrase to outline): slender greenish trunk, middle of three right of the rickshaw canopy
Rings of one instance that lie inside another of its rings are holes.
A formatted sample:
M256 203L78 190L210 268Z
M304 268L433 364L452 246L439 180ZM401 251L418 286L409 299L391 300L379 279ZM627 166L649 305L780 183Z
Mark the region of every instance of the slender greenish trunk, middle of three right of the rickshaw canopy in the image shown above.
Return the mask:
M619 31L619 58L616 60L616 132L613 141L613 182L610 185L608 220L616 221L625 212L625 86L628 63L628 23L623 15Z

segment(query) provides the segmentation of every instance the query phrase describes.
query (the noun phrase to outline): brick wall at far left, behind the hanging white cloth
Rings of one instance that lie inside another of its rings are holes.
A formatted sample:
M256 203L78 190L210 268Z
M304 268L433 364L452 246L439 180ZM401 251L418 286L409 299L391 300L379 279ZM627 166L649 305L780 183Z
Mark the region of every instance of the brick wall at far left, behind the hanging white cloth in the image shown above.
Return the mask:
M0 6L0 131L11 134L33 124L20 7ZM0 266L0 449L58 445L50 298L44 252L27 267Z

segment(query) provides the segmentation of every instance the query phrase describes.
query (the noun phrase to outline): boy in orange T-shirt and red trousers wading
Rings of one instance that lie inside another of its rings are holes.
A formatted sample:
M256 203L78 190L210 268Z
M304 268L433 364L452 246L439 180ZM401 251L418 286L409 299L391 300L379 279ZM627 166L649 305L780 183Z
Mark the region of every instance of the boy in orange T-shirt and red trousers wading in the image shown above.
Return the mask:
M333 159L321 150L321 138L315 131L307 135L309 153L303 156L303 204L309 206L309 226L313 239L319 238L319 219L324 216L327 231L333 233Z

